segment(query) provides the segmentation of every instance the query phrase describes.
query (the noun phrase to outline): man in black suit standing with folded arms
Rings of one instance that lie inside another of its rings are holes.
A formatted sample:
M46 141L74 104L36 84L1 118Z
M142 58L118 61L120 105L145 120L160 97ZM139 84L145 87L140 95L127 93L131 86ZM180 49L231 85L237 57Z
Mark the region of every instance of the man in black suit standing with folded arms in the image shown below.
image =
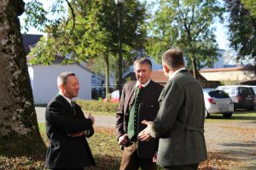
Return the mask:
M45 167L50 169L84 169L95 166L85 137L94 133L93 116L85 118L81 107L72 101L79 94L79 80L72 72L58 77L59 94L47 105L45 119L49 148Z

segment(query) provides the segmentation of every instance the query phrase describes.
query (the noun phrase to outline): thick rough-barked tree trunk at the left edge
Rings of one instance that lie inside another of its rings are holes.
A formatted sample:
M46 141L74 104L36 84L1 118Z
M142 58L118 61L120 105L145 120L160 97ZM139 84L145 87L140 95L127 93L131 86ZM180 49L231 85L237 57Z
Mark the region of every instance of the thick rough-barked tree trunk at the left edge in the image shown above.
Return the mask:
M0 150L6 156L42 152L18 15L22 0L0 3Z

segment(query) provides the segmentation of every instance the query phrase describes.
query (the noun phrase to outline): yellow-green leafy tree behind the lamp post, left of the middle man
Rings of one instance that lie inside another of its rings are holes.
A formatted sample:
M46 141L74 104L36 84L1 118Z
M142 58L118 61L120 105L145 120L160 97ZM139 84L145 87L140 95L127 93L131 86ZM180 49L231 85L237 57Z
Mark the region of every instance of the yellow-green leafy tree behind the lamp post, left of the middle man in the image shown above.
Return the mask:
M37 0L33 0L28 7L33 7L36 3ZM64 1L58 0L52 11L63 12L63 3ZM38 26L34 23L41 20L47 32L47 37L43 37L32 50L32 54L37 56L32 64L49 65L54 61L55 55L64 57L63 64L95 59L96 65L96 61L102 59L106 68L108 89L109 62L116 61L109 58L116 58L118 53L118 8L113 0L73 0L67 2L67 5L67 17L56 20L47 19L44 8L40 8L42 10L39 13L28 8L28 15L33 15L33 19L27 25ZM123 56L127 62L133 57L131 51L143 48L146 37L145 20L145 4L126 0L123 12ZM118 67L116 63L111 65Z

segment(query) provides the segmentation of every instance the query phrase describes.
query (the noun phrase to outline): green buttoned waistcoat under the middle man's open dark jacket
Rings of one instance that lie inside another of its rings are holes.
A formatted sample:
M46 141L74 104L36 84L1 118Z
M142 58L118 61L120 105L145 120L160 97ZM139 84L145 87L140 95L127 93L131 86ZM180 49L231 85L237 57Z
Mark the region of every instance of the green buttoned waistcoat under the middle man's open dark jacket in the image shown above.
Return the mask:
M133 137L137 135L137 114L138 114L138 107L140 102L140 95L142 94L141 93L142 89L143 89L142 85L137 86L134 102L131 105L129 122L128 122L128 137L131 140L133 140Z

